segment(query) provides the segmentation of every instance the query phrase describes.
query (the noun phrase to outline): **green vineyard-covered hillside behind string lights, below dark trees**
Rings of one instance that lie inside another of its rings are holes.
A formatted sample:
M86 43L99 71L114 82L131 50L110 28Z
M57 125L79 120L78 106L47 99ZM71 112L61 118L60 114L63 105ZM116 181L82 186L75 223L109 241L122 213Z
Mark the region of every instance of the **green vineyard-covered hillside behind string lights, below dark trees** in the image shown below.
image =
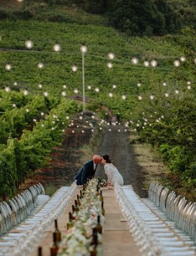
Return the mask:
M12 89L26 88L36 94L61 95L62 85L66 84L67 96L73 94L74 89L82 92L82 67L80 47L85 44L88 52L85 55L86 85L91 85L87 96L104 101L111 109L119 112L120 105L132 109L137 95L154 90L157 83L166 80L173 69L175 56L181 55L178 47L165 42L161 38L123 38L112 28L95 25L78 25L69 23L49 23L16 20L2 20L0 22L2 49L0 56L1 85L10 85ZM10 30L11 28L11 30ZM34 47L27 50L26 40L31 39ZM58 43L60 52L54 52L53 46ZM114 52L113 68L107 68L108 53ZM132 57L139 59L139 64L132 64ZM157 68L144 67L144 60L158 61ZM37 68L38 63L44 68ZM11 71L6 71L5 65L12 65ZM72 71L72 65L78 67ZM14 86L13 82L18 85ZM145 86L137 87L137 82L145 82ZM39 89L39 84L43 88ZM112 89L116 84L117 88ZM96 93L98 87L100 92ZM109 98L108 94L114 93ZM121 99L122 95L127 100ZM118 109L119 106L119 109Z

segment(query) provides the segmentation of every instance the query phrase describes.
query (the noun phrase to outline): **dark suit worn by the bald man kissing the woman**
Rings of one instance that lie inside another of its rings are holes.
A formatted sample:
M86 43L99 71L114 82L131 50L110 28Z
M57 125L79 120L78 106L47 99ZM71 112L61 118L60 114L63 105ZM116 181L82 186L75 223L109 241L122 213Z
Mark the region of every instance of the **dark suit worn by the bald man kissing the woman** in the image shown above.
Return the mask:
M97 165L96 165L97 168ZM92 179L96 168L94 170L93 160L87 162L82 166L81 170L74 175L74 180L77 180L77 185L83 185L86 183L87 179Z

